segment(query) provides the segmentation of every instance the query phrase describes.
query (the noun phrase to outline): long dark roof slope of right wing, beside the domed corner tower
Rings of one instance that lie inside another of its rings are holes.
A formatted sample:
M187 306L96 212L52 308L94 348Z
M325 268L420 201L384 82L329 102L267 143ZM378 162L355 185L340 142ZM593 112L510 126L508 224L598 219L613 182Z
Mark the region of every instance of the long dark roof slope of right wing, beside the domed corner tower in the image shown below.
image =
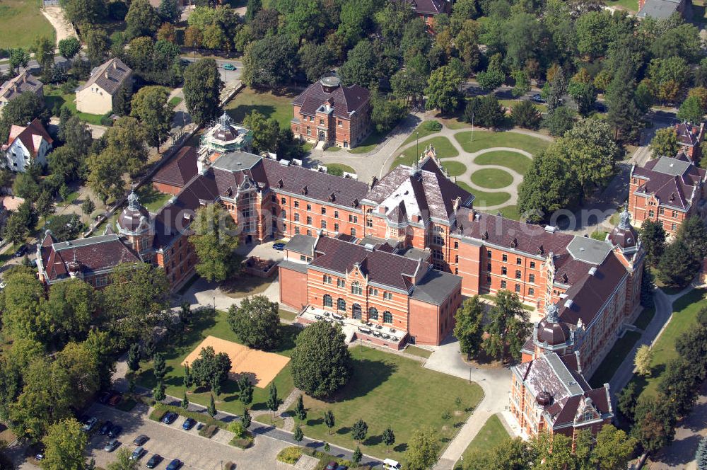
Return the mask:
M621 280L628 275L626 267L612 251L602 264L592 269L592 273L585 271L585 275L567 290L567 297L559 305L560 320L576 325L581 319L587 328L596 318L609 294L614 292Z

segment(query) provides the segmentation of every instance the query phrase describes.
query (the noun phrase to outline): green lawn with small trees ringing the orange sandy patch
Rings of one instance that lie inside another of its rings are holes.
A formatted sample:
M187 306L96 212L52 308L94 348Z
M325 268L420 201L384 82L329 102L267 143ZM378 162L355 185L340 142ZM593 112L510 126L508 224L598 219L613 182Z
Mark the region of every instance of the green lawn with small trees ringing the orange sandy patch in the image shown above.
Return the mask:
M235 334L228 326L226 312L216 311L214 314L204 309L198 315L199 316L194 319L194 323L186 333L177 335L176 338L169 338L160 344L159 351L162 352L165 357L165 362L167 363L167 374L164 380L167 386L166 392L168 395L176 396L177 398L181 398L184 394L184 367L182 366L182 360L184 360L185 357L189 355L189 352L192 352L206 336L216 336L217 338L239 343L235 338ZM273 352L289 356L295 346L294 340L300 329L289 325L282 325L281 328L284 333L284 338L279 348ZM286 398L294 388L290 365L286 365L286 367L276 375L273 382L277 387L278 395L282 399ZM156 379L152 373L151 362L141 362L141 369L139 370L136 383L149 389L154 388ZM238 386L235 382L228 380L222 390L221 396L216 397L216 408L238 415L243 413L243 404L238 401ZM194 393L188 395L189 401L204 406L209 405L211 391L208 387L201 387L197 390L192 389L192 391ZM249 408L253 410L267 409L265 406L267 397L267 388L260 389L255 387L253 390L253 401Z

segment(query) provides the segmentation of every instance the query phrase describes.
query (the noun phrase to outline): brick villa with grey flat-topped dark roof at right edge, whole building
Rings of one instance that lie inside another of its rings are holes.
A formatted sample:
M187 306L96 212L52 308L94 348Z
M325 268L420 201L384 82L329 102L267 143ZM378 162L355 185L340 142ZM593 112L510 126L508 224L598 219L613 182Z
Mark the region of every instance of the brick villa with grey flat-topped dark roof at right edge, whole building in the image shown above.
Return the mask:
M642 224L660 221L669 235L692 215L703 215L703 191L707 171L698 168L685 154L661 156L645 166L631 168L629 212Z

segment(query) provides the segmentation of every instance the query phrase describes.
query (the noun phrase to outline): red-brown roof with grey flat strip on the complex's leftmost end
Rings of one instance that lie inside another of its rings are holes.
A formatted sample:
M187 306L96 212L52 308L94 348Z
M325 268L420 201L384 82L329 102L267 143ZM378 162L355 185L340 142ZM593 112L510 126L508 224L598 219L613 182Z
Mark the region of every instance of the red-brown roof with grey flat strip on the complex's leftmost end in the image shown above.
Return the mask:
M115 234L91 236L87 239L52 243L45 236L40 253L47 279L56 280L69 275L69 263L74 258L84 274L115 268L121 263L137 263L139 256Z

